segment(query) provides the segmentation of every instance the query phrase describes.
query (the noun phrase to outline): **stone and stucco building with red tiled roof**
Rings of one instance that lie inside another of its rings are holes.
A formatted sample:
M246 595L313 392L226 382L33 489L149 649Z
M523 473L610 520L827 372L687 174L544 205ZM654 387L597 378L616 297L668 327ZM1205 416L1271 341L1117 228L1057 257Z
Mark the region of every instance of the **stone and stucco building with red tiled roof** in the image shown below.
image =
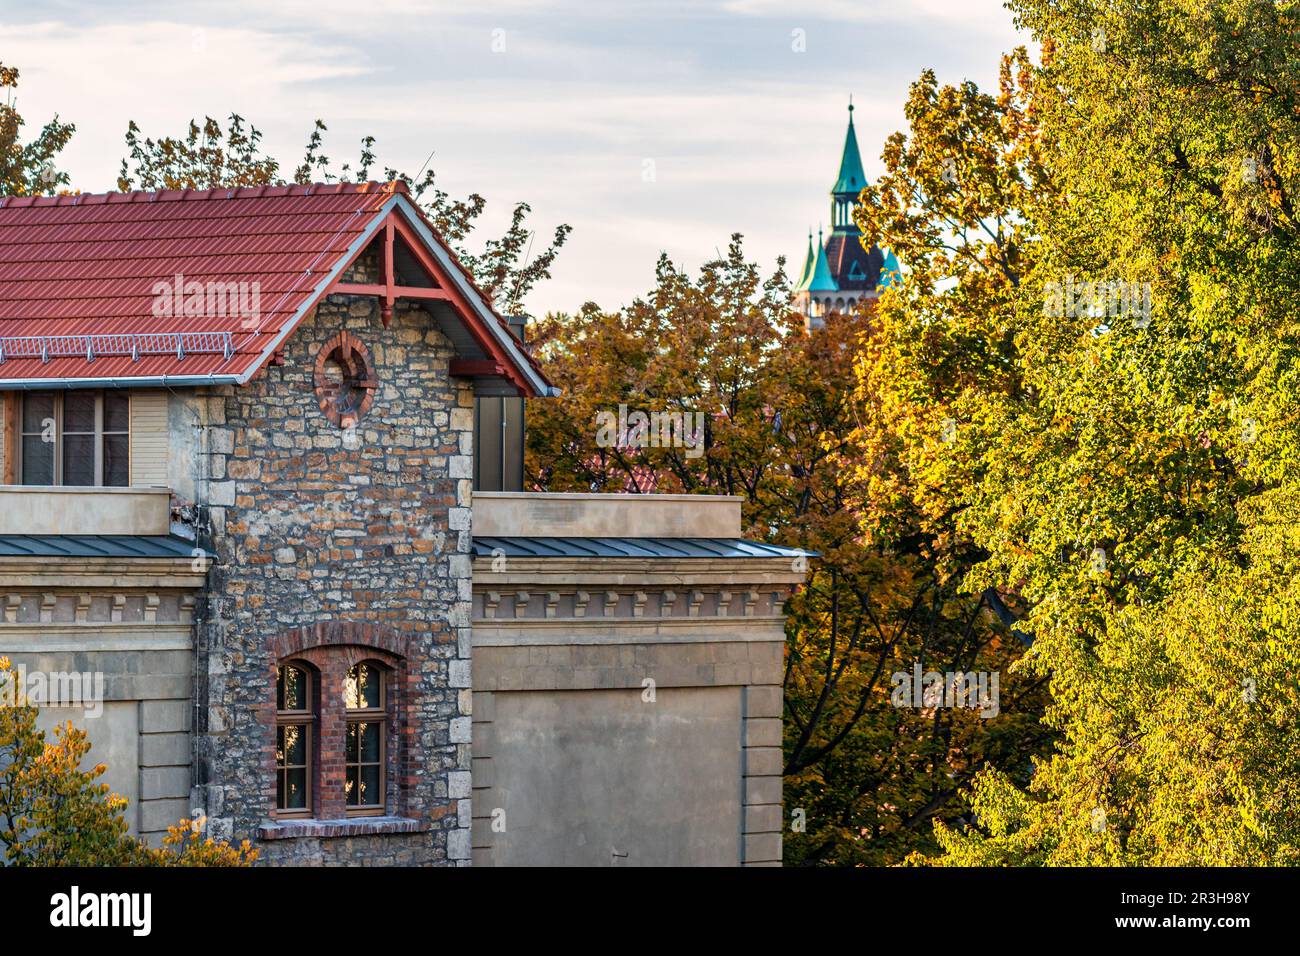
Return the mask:
M552 395L400 183L0 199L0 654L151 839L779 864L803 555L521 493Z

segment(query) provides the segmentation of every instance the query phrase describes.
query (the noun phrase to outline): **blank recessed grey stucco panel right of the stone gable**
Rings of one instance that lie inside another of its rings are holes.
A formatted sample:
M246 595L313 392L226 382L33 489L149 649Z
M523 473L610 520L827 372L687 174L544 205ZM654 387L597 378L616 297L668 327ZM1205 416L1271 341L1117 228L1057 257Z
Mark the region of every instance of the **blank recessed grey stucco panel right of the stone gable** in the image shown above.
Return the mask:
M740 711L738 687L497 693L493 861L738 864Z

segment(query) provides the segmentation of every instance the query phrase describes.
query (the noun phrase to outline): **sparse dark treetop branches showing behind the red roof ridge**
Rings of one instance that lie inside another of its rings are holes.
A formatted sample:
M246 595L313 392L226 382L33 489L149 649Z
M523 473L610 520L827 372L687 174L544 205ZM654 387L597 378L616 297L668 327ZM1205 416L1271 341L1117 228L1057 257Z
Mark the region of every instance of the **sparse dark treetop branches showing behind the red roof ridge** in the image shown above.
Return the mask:
M320 120L312 129L303 161L294 170L294 182L307 185L324 181L367 182L377 170L374 137L361 140L356 168L344 163L334 172L324 155L326 126ZM209 117L203 125L191 121L185 137L161 139L140 138L140 129L130 122L126 129L127 156L117 177L121 191L133 189L217 189L234 186L282 185L280 163L263 152L261 131L242 116L230 114L226 129ZM523 310L524 298L538 284L551 277L551 265L572 232L559 225L550 245L532 255L533 230L528 226L532 207L516 203L510 226L495 239L488 239L481 251L469 251L465 241L486 207L477 193L467 199L452 199L438 189L433 170L411 177L393 168L382 169L385 181L407 183L415 202L424 209L438 234L452 247L497 307L510 315Z

